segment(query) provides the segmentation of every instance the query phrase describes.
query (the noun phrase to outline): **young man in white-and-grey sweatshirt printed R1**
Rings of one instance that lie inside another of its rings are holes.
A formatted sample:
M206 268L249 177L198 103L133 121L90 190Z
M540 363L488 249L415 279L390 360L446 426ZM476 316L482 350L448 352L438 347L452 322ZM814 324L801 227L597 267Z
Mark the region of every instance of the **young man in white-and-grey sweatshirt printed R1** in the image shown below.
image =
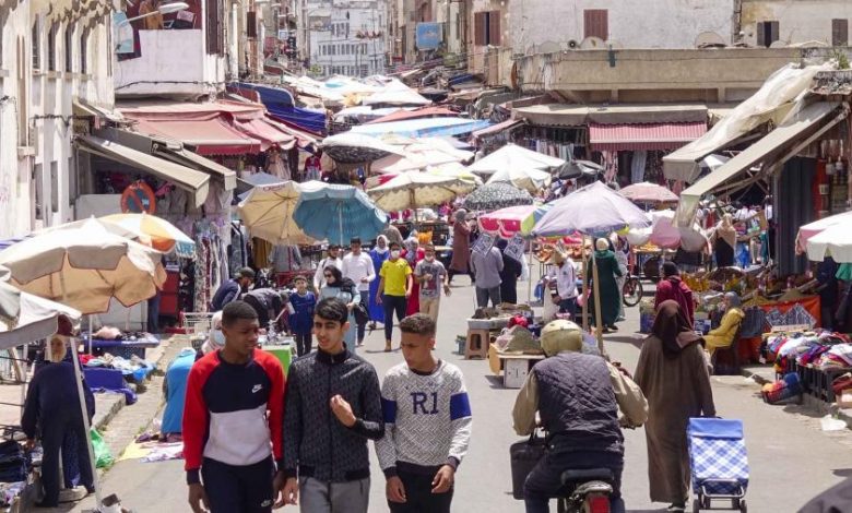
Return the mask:
M435 357L435 321L400 323L405 358L381 389L384 438L376 442L392 513L449 513L455 469L471 439L471 405L461 370Z

